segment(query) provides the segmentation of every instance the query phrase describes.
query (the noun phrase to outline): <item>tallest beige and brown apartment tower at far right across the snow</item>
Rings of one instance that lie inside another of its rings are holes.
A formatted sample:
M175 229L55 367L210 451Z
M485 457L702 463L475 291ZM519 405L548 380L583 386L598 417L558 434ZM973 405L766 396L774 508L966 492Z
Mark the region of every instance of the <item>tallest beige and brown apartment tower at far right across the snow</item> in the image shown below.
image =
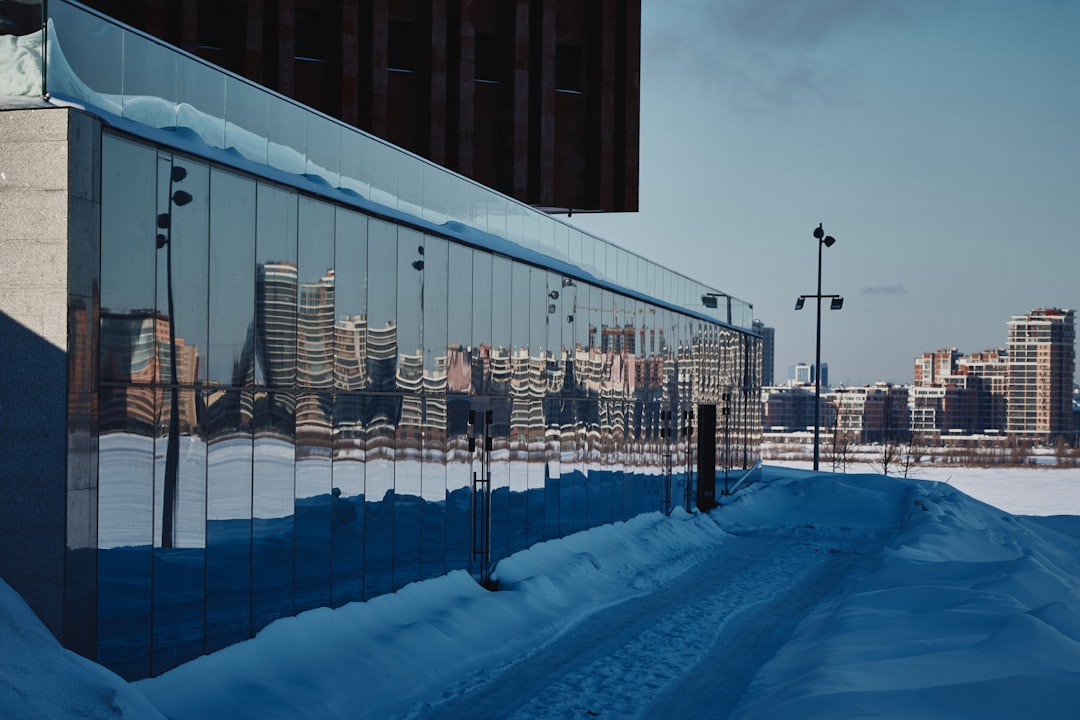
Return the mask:
M1076 372L1072 310L1042 308L1009 321L1005 408L1011 437L1052 440L1070 435Z

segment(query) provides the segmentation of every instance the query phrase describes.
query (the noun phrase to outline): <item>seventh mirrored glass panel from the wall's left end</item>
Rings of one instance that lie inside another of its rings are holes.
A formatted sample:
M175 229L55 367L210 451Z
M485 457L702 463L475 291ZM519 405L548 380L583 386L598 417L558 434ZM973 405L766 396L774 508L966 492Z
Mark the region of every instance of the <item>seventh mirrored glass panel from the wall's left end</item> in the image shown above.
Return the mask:
M368 221L368 341L365 395L364 596L393 587L394 432L401 416L397 368L397 229Z

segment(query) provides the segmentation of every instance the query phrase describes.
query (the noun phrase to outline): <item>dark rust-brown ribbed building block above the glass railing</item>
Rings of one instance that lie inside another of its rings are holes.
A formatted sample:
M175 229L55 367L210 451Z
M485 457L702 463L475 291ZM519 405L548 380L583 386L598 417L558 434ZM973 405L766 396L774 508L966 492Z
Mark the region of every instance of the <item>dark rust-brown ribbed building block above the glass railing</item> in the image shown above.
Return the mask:
M90 0L529 205L637 210L640 0Z

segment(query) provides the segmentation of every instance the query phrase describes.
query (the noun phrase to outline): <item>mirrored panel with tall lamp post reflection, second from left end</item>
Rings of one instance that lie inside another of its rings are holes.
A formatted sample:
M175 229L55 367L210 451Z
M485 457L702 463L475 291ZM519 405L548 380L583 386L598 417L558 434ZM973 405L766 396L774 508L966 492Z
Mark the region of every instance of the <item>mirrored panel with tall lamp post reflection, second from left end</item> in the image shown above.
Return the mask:
M195 384L205 366L210 168L159 157L158 447L154 463L154 674L203 651L206 435ZM187 194L184 194L187 193ZM172 200L171 200L172 199Z

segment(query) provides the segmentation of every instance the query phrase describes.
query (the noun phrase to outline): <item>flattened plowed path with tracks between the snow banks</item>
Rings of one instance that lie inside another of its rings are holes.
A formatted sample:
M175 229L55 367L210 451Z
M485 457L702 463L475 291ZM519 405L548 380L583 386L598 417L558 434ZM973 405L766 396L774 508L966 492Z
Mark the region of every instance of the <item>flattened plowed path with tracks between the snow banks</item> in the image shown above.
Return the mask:
M594 613L478 687L447 689L417 717L726 717L873 545L836 530L731 535L667 586Z

